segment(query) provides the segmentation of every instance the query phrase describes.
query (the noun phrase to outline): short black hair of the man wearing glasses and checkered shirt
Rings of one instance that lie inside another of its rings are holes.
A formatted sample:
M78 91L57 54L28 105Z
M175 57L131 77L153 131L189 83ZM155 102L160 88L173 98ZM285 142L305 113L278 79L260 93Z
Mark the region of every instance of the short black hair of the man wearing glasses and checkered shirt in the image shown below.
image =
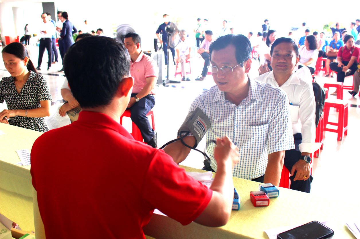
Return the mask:
M228 47L228 45L230 44L235 47L235 58L238 64L251 58L252 48L249 39L241 34L239 35L228 34L228 35L220 36L215 40L215 42L211 43L209 47L210 60L211 60L212 51L224 49L225 47ZM243 65L244 65L243 63L240 64L241 67L243 67Z

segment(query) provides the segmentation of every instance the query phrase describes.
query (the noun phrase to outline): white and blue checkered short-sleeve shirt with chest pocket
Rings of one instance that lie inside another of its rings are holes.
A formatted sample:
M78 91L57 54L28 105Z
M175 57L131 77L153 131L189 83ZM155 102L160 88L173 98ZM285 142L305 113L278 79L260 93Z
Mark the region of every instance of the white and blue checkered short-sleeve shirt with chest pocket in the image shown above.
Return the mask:
M267 155L294 148L288 105L282 89L255 80L250 80L248 96L239 105L226 100L217 86L199 95L189 112L199 107L210 119L206 149L212 169L217 170L212 140L226 135L240 153L234 177L254 179L264 175Z

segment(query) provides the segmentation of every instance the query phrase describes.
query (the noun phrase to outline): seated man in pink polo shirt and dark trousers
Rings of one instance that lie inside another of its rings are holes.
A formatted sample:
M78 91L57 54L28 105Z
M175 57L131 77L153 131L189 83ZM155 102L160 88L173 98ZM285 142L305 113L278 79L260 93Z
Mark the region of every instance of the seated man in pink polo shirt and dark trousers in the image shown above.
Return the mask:
M152 90L159 76L159 68L151 57L141 51L139 34L135 32L126 34L124 45L131 57L130 74L134 78L134 86L127 108L130 108L131 120L138 126L144 142L156 148L156 131L150 126L146 115L155 105Z

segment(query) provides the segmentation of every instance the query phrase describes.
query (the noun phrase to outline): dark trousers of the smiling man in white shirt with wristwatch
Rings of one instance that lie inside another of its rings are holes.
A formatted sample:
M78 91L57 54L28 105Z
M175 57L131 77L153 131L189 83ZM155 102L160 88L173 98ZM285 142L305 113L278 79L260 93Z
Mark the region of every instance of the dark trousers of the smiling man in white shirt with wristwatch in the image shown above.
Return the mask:
M297 161L299 161L301 152L297 149L299 148L299 144L301 144L302 136L301 133L294 134L294 143L295 143L295 149L289 149L285 151L285 158L284 158L284 166L291 172L292 167L294 164L296 164ZM307 180L296 180L294 181L294 178L296 176L296 171L294 175L290 178L291 185L290 189L297 190L301 192L308 192L310 193L311 189L311 182L313 177L310 175L310 178Z

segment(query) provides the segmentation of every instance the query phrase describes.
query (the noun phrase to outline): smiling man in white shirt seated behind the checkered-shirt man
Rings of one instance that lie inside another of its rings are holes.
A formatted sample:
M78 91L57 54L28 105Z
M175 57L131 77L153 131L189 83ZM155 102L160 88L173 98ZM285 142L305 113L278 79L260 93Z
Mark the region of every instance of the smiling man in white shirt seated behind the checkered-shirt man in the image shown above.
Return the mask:
M288 104L295 149L285 151L284 165L291 173L291 189L310 192L312 181L310 153L316 151L317 146L319 146L314 143L314 92L308 82L309 79L304 80L294 72L299 63L299 52L296 43L291 38L276 39L271 47L270 55L273 71L262 74L255 79L282 88L289 97Z

